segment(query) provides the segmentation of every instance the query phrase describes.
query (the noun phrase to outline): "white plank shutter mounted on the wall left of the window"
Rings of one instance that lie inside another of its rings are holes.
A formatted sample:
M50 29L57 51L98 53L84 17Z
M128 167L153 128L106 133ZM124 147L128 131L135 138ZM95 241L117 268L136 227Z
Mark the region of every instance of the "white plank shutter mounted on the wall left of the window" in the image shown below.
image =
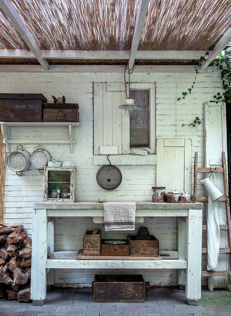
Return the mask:
M121 154L121 91L93 85L94 155Z

